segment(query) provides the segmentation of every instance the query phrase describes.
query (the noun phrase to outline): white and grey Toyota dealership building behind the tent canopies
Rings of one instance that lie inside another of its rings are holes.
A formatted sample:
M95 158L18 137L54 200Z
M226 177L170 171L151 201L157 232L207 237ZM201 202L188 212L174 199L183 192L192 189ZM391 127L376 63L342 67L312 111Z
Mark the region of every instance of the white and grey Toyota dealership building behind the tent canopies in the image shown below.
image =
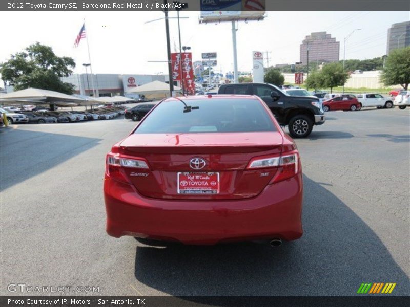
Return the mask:
M94 83L97 97L122 95L134 98L138 95L127 92L137 86L155 80L169 83L168 75L72 74L62 79L74 84L75 94L87 96L92 96Z

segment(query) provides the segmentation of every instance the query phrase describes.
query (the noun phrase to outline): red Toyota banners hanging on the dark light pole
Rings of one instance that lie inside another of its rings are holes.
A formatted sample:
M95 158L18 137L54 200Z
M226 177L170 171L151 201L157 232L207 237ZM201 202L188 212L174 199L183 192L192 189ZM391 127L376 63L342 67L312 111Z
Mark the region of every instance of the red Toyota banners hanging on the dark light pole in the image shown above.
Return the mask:
M181 57L180 57L181 56ZM171 53L172 80L182 81L183 89L188 95L195 95L194 68L192 63L192 53L183 52ZM182 75L182 80L181 80Z

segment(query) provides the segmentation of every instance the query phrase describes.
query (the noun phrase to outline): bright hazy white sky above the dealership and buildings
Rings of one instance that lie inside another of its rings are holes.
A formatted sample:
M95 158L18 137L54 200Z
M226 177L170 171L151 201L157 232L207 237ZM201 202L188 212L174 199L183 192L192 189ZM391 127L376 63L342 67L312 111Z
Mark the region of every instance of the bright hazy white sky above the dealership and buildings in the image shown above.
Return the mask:
M87 42L73 43L83 19L90 46L93 73L163 74L168 72L165 21L161 12L0 12L2 29L0 62L39 41L51 46L58 56L73 57L74 73L85 73ZM176 12L170 12L176 17ZM231 23L199 24L199 12L181 12L182 46L190 46L193 60L202 52L217 52L218 67L232 71ZM346 42L346 59L367 59L386 54L387 29L410 20L410 12L267 12L263 21L238 23L239 71L251 71L252 51L271 51L269 65L299 61L299 46L311 32L327 31ZM179 46L177 19L170 19L171 51ZM158 62L149 62L158 61ZM2 83L0 82L0 86Z

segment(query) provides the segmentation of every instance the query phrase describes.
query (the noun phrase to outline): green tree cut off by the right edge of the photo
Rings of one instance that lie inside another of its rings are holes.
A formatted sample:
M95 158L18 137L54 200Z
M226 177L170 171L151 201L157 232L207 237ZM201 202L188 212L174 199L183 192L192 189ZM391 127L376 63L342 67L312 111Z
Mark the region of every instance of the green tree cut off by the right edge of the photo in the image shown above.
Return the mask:
M385 85L400 84L407 91L410 83L410 47L389 53L381 79Z

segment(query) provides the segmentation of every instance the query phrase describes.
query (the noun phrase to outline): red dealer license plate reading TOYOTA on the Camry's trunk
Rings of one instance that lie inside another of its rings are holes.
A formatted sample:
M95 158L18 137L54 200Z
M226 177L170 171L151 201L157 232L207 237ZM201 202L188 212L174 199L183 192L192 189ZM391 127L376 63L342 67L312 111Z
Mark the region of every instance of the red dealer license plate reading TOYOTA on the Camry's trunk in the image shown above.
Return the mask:
M218 193L218 172L178 172L178 194Z

